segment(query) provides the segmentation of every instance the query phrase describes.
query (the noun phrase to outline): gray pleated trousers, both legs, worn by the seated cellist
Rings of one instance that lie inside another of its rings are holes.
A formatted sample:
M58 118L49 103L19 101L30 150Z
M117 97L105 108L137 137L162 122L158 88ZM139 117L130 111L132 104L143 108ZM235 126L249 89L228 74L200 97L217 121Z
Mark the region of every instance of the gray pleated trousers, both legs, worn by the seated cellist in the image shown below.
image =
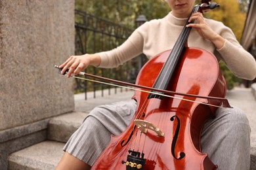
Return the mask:
M110 142L110 135L125 130L135 113L135 101L119 101L91 111L70 137L64 151L93 165ZM217 109L216 118L207 120L202 131L202 152L218 169L246 170L250 165L250 127L242 110Z

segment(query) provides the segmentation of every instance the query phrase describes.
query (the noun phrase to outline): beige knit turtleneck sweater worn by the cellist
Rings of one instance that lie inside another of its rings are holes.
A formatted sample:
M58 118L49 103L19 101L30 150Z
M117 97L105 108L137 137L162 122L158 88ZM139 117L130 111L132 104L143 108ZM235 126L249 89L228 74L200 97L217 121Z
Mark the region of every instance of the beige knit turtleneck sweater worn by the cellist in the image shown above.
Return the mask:
M137 28L121 46L108 52L98 53L99 67L117 67L125 61L144 53L148 59L160 52L173 48L187 18L176 18L167 14L165 18L151 20ZM253 56L242 48L231 29L215 20L205 19L207 24L226 41L223 48L216 49L211 41L203 39L195 29L188 37L189 47L199 47L223 60L234 75L252 80L256 76L256 62Z

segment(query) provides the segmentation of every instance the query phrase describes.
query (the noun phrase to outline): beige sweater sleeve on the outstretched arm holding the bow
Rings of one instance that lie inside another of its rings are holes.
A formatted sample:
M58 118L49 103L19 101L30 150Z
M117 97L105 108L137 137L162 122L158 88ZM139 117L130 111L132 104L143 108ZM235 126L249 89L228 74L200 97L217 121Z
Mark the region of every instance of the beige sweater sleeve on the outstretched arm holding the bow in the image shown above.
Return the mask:
M98 67L113 68L135 58L142 53L143 42L142 35L136 29L121 46L110 51L97 53L101 59Z

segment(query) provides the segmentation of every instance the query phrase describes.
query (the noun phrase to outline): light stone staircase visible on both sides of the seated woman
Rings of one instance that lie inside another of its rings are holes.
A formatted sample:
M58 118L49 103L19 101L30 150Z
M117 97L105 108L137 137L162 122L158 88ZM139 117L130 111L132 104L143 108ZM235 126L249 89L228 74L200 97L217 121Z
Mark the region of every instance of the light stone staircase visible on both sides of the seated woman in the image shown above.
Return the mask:
M256 102L253 97L253 94L256 95L256 87L252 89L236 88L226 95L230 103L240 106L249 118L251 125L251 170L256 169L256 114L254 114ZM96 99L89 96L87 101L84 100L84 95L75 95L75 112L51 118L47 129L48 140L9 155L9 169L54 169L64 153L62 151L64 143L81 125L89 110L93 109L95 105L130 99L132 95L133 92L130 91L118 92L114 95L96 97Z

